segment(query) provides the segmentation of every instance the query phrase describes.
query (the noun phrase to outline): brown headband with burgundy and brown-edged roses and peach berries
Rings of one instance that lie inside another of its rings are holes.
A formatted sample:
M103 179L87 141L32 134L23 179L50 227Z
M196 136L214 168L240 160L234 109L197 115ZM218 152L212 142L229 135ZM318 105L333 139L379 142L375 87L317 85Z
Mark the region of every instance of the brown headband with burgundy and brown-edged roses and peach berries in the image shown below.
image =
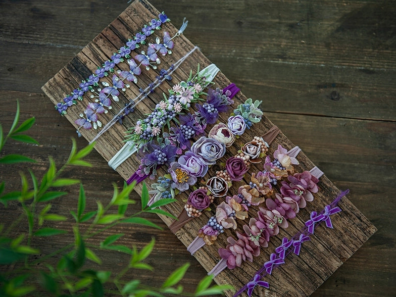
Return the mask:
M254 137L251 142L245 144L236 156L228 158L224 170L217 171L216 176L209 178L205 182L206 186L200 187L189 195L184 210L179 214L178 219L169 226L171 232L176 233L188 221L200 216L202 211L208 208L209 204L213 202L214 197L226 196L229 188L232 186L232 181L241 181L243 179L249 168L249 163L260 162L260 157L266 155L269 144L273 142L279 132L278 127L272 127L262 137ZM191 167L187 166L187 170L188 168ZM169 171L172 176L172 168L169 168ZM175 181L174 175L173 173L172 179ZM178 187L177 182L175 182L176 187Z

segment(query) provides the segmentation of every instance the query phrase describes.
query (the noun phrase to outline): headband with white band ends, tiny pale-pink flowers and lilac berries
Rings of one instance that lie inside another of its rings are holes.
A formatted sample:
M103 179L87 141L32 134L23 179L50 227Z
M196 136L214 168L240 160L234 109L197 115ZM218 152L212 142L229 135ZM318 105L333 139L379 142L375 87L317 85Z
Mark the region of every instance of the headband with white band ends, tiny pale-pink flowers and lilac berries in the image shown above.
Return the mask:
M161 100L145 119L138 120L137 125L130 128L131 133L128 136L129 139L123 148L121 148L109 160L109 166L115 170L127 158L137 152L139 148L143 147L144 144L153 140L154 137L158 137L159 132L162 131L162 128L170 125L170 121L175 120L175 116L177 114L184 114L185 111L190 107L191 102L198 101L199 96L205 94L203 93L203 90L209 86L218 71L219 68L216 67L215 64L210 64L201 71L198 69L197 74L194 77L190 77L187 82L181 82L173 86L172 90L169 90L168 98ZM179 90L181 85L185 86L184 92L187 92L192 97L191 99L189 98L190 102L187 102L187 99L184 101L185 98L183 98L182 102L180 102L180 99L183 97L183 95L186 95L181 92L183 91L183 87L181 90ZM178 92L175 92L174 89ZM175 100L175 98L178 100ZM164 120L162 120L162 124L160 124L161 121L159 121L159 125L158 114L160 115L159 119L164 118ZM150 134L152 135L150 138L148 138L147 131L145 131L147 129L150 130ZM151 129L153 131L151 131Z

